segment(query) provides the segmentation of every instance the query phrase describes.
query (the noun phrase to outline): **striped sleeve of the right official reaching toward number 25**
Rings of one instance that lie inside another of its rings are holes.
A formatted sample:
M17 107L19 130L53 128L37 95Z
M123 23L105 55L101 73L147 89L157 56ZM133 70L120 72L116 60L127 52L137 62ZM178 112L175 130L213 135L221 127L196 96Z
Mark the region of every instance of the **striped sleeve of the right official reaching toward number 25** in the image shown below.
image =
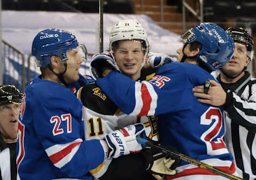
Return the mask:
M256 132L256 80L249 81L241 96L234 92L227 93L223 109L236 124Z

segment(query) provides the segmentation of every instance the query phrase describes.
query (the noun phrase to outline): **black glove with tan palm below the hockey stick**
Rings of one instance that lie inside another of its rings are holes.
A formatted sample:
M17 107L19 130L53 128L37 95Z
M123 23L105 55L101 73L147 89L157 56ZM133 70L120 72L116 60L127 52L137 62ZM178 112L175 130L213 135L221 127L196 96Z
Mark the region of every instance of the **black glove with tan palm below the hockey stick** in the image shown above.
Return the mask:
M171 146L167 146L167 149L176 151ZM146 170L151 174L156 175L175 175L179 166L180 159L178 157L170 157L163 153L161 150L152 146L146 145L142 150L142 154L146 159Z

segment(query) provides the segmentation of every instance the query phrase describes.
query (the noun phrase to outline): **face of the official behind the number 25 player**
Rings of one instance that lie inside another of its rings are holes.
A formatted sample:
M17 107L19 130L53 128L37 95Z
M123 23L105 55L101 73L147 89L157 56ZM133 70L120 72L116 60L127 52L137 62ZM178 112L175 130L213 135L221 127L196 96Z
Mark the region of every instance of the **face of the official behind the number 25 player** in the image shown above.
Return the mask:
M247 56L246 46L240 43L235 43L235 52L232 58L228 61L225 66L221 69L231 77L237 76L249 63L249 58ZM243 73L242 73L243 74ZM243 75L241 75L243 76Z

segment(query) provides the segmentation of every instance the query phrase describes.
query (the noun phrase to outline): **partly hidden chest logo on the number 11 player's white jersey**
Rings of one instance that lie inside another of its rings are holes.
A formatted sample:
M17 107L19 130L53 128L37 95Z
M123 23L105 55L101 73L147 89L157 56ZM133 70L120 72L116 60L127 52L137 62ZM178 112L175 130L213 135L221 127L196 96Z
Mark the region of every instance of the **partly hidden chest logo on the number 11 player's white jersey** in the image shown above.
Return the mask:
M137 122L145 125L146 136L153 141L159 141L157 116L137 117Z

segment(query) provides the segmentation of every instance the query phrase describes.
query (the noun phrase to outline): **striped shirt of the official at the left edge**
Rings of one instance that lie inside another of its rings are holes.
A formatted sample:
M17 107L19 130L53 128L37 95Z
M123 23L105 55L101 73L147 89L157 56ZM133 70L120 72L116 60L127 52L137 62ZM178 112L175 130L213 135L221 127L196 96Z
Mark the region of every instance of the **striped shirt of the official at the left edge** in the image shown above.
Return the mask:
M5 143L0 136L0 180L16 180L17 143Z

